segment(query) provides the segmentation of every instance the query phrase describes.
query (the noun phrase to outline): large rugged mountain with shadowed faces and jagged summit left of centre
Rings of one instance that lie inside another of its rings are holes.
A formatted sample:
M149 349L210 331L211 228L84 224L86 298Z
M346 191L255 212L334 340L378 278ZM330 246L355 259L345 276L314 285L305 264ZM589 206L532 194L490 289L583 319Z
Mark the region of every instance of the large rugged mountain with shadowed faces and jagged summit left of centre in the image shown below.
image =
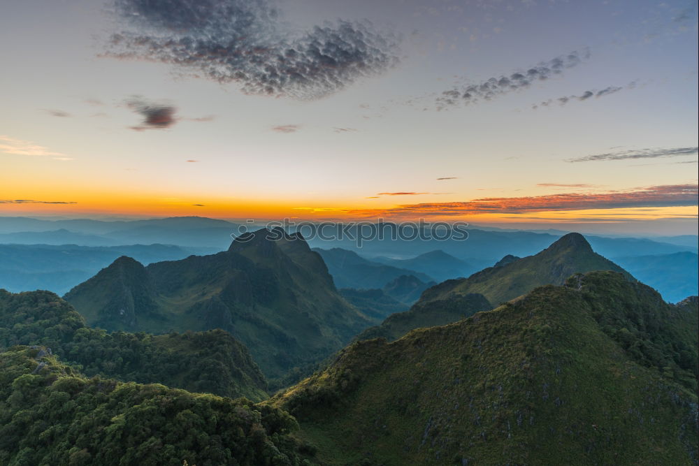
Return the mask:
M322 258L280 228L229 250L147 267L121 258L66 300L108 330L228 330L269 377L319 361L375 322L337 292Z

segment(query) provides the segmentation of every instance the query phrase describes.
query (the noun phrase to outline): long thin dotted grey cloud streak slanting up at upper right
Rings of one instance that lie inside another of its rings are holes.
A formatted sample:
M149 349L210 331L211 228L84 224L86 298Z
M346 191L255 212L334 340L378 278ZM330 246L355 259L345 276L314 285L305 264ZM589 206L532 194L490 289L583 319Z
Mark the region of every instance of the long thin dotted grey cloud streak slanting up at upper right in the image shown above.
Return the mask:
M542 61L527 70L516 71L510 75L493 76L476 84L454 87L438 96L437 106L442 109L454 105L474 105L491 101L498 96L527 89L535 82L561 75L563 71L581 64L588 57L588 50L576 50L549 61Z

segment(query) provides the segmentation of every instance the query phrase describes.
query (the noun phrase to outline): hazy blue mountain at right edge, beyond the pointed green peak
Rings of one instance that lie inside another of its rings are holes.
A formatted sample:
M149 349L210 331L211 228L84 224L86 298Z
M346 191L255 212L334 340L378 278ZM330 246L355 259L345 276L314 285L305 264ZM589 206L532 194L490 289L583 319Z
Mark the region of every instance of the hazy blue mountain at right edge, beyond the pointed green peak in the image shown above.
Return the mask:
M676 252L659 256L617 257L614 262L624 267L644 284L656 289L663 299L677 303L698 294L697 254Z

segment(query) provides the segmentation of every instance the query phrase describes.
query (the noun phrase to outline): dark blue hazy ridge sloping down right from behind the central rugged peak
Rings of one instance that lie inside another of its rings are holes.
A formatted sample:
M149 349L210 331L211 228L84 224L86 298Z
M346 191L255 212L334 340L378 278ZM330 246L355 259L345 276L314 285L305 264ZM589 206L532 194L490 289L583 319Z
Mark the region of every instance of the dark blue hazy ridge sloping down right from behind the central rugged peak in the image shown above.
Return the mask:
M401 275L415 275L423 282L432 281L432 278L424 273L369 261L347 249L336 247L313 250L320 254L328 265L330 275L338 288L380 289Z

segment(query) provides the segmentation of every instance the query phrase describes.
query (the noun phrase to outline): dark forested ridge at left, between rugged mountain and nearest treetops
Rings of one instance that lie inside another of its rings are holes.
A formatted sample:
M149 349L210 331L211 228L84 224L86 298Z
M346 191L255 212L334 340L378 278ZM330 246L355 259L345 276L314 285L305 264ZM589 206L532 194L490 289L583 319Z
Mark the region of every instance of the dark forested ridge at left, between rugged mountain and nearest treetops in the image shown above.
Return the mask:
M0 290L0 349L41 344L88 376L159 383L251 400L267 383L247 348L223 330L198 333L106 333L85 326L73 307L48 291Z

